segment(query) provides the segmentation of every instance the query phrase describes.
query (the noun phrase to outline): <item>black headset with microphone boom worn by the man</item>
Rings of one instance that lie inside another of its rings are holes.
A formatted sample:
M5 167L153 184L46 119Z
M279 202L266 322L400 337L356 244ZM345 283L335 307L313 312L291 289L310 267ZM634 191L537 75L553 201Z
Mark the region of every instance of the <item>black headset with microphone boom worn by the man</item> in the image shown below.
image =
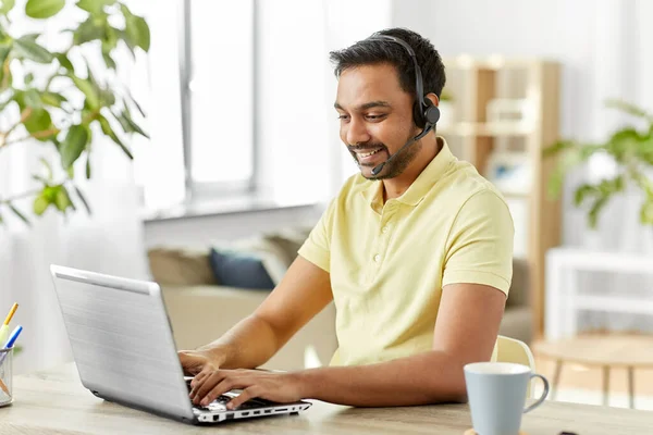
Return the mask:
M408 54L410 55L410 59L412 59L412 63L415 64L415 94L417 97L415 100L415 104L412 105L412 117L415 119L415 124L418 127L423 128L419 135L409 139L406 144L404 144L402 148L397 150L397 152L392 154L386 161L374 166L372 169L372 175L375 176L381 172L381 170L383 170L387 162L394 159L395 156L408 148L409 145L415 144L416 141L424 137L427 133L429 133L435 126L438 120L440 120L440 109L438 109L436 105L433 105L433 102L431 100L424 98L424 85L422 80L421 70L419 67L419 64L417 63L417 55L415 55L415 51L406 41L394 36L380 34L374 34L371 37L367 38L367 40L395 42L404 47L406 51L408 51Z

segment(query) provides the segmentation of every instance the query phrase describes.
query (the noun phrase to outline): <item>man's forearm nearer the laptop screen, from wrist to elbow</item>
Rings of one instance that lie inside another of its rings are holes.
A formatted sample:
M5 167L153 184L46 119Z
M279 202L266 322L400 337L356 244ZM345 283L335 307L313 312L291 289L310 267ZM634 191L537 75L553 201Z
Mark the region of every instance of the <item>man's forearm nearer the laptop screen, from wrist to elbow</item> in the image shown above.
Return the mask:
M208 352L221 369L255 369L276 353L278 341L270 324L252 314L198 350Z

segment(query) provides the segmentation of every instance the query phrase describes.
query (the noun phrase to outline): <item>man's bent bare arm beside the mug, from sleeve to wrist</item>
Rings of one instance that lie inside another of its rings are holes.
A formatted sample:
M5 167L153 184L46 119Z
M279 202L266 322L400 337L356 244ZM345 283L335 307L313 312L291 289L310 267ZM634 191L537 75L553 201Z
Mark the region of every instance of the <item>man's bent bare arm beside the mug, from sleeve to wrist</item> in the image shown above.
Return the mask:
M463 368L489 361L506 296L480 284L443 289L433 350L394 361L307 371L308 397L335 403L382 407L465 401Z

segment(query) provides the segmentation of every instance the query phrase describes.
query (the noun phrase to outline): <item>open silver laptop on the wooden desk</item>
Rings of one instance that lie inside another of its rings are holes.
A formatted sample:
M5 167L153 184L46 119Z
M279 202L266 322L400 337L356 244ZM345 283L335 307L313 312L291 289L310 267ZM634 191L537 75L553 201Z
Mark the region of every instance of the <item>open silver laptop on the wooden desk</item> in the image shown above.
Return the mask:
M192 377L184 376L158 284L60 265L50 272L79 378L97 397L189 424L297 414L311 406L250 399L227 410L238 390L193 405Z

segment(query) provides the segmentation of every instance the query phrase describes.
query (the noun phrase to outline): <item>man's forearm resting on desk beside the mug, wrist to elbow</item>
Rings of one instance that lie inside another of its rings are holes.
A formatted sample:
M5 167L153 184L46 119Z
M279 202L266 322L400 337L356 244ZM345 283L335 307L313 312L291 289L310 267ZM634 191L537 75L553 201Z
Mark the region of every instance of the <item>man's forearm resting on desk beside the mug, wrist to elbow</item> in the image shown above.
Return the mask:
M465 401L463 364L441 351L394 361L296 374L306 398L355 407Z

